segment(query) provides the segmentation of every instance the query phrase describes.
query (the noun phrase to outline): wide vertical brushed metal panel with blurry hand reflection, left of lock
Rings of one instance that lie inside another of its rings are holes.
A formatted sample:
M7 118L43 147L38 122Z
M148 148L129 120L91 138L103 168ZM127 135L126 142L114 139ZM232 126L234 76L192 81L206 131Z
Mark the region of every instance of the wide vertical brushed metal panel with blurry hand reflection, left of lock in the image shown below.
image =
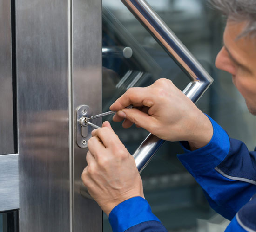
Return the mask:
M68 0L17 0L20 232L69 232Z

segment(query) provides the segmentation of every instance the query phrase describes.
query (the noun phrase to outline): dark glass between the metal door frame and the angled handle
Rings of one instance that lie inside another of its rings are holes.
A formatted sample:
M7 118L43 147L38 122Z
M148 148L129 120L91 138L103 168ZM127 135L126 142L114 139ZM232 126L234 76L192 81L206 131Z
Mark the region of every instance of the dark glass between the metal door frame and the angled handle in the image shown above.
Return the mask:
M189 78L119 0L103 1L102 18L103 112L130 87L148 86L162 77L182 90L189 84ZM111 121L111 116L104 119ZM148 135L136 127L112 126L131 153Z

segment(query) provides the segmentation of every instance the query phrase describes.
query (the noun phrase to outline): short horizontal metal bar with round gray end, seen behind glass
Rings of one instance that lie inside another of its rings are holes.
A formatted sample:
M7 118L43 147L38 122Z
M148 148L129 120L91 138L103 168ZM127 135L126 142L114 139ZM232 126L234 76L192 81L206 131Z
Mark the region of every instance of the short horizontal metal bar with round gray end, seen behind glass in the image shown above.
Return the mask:
M133 55L133 50L130 47L104 47L102 48L102 57L107 57L113 55L116 58L126 58L129 59Z

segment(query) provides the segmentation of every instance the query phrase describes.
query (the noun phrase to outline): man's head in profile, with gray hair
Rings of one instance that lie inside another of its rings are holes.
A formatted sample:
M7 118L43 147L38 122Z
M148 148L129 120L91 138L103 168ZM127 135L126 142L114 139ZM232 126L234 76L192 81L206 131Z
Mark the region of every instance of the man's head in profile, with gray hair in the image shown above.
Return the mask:
M256 115L256 0L211 0L228 16L216 67L232 74L249 111Z

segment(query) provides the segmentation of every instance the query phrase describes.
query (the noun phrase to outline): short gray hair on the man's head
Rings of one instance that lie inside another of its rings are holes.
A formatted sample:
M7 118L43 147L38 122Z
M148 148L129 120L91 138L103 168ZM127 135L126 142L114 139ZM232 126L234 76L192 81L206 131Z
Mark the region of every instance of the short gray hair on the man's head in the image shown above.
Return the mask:
M209 0L212 6L220 10L229 19L236 22L247 21L240 36L256 37L256 0Z

